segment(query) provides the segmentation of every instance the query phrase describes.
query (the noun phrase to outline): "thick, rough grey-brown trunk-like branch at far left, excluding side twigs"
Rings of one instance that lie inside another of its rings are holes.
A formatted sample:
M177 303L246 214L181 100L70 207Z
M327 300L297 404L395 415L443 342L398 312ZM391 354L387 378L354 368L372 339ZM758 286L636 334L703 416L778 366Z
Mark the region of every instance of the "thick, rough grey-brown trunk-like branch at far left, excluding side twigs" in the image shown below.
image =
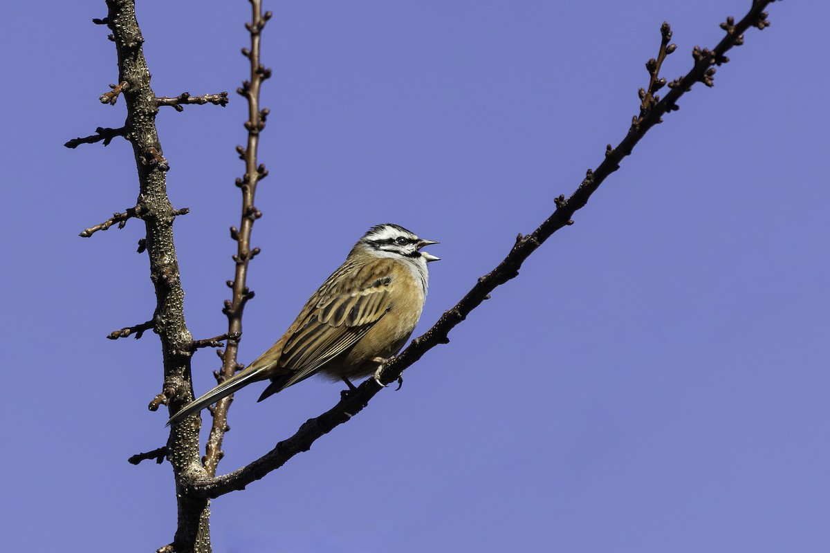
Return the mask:
M157 96L150 85L150 71L144 58L144 37L135 19L134 0L106 0L107 27L118 55L121 95L127 111L125 129L119 133L128 138L133 148L139 179L139 197L146 240L139 245L149 256L150 281L154 287L156 306L154 331L161 342L164 362L164 392L151 405L166 403L178 411L193 400L190 363L193 352L191 336L184 321L181 277L173 240L173 220L177 212L170 204L166 172L169 163L159 140L155 118L159 113ZM179 214L181 211L178 212ZM149 323L148 323L149 325ZM176 481L178 527L173 539L176 551L210 551L210 509L206 501L183 497L178 489L193 471L202 472L199 458L198 421L179 424L171 430L167 458L173 466Z

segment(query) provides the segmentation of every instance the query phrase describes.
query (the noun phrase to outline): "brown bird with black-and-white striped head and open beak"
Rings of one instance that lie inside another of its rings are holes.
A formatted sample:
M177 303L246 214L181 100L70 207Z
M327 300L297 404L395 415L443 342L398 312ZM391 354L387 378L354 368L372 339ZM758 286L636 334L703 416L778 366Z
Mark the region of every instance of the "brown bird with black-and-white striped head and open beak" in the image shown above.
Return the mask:
M415 330L427 298L427 263L441 259L421 251L432 244L438 242L392 223L370 228L271 348L167 424L256 381L271 380L257 401L318 373L354 388L350 379L373 374Z

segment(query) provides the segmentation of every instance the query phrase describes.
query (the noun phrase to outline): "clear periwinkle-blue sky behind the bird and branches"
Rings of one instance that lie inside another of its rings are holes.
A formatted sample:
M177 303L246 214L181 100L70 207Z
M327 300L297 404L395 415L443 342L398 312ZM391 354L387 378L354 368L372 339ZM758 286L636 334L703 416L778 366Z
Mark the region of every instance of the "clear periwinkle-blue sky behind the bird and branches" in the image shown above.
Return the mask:
M271 109L256 205L262 250L240 360L278 337L369 226L441 240L425 331L569 195L637 113L659 27L673 79L745 0L267 2ZM216 551L830 551L825 2L772 27L696 85L621 170L355 420L213 502ZM124 105L105 3L15 2L0 20L5 551L154 551L173 537L150 413L153 334L129 144L76 150ZM233 92L249 4L139 2L158 95ZM246 105L162 109L195 337L223 332ZM198 390L218 360L194 359ZM308 381L237 395L220 472L328 409Z

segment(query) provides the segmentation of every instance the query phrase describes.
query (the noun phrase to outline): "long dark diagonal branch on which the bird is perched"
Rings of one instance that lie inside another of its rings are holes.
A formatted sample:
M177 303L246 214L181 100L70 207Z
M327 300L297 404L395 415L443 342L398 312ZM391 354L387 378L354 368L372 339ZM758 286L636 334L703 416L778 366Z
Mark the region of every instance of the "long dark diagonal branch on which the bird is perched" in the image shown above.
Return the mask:
M735 31L727 33L727 36L720 44L710 52L709 56L703 56L697 60L689 73L683 77L683 82L688 86L678 86L670 91L666 98L655 104L642 116L642 120L632 126L623 141L617 148L609 148L605 153L605 159L599 164L596 171L588 170L585 179L567 200L559 196L554 200L556 210L544 221L533 233L527 236L519 235L515 245L505 260L493 269L490 273L478 279L475 286L461 298L455 307L443 313L437 323L432 326L421 337L417 337L403 352L391 360L383 362L373 378L364 381L357 390L344 395L337 405L314 419L310 419L300 426L300 429L272 449L261 458L256 459L245 467L239 468L233 473L218 478L209 478L206 475L199 475L188 483L184 483L184 489L194 497L219 497L234 490L244 489L247 484L263 478L267 473L280 468L288 459L303 451L310 449L311 444L323 434L330 432L335 426L347 422L351 417L363 410L370 399L393 381L396 381L403 373L403 370L420 359L424 353L438 344L449 342L448 334L458 323L461 323L473 309L483 301L490 298L490 293L500 284L505 284L519 274L522 263L537 248L547 240L556 230L573 223L571 217L574 212L582 208L588 202L588 198L597 190L600 184L608 175L619 168L619 163L625 156L631 153L632 148L655 124L659 123L663 114L676 106L676 101L689 90L691 84L702 80L706 71L715 63L725 62L723 54L730 50L738 41L740 33L750 26L763 28L769 25L766 22L766 14L762 13L764 7L772 0L756 0L752 9L746 17L735 25ZM763 24L759 24L763 22Z

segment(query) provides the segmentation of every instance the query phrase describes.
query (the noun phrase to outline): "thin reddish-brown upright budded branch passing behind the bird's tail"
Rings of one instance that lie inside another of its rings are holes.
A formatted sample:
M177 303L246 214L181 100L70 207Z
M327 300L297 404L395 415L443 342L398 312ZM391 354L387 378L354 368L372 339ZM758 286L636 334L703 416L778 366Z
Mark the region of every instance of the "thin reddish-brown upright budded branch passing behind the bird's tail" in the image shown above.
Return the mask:
M233 281L228 281L232 290L231 299L226 300L222 313L227 316L228 334L242 334L242 314L245 311L247 301L254 297L254 293L247 287L248 264L260 253L259 248L251 248L251 230L256 219L262 216L261 211L254 206L256 196L256 185L266 177L268 172L264 165L257 165L256 153L259 145L259 133L265 129L267 109L260 109L260 90L262 81L271 76L271 70L265 69L260 63L260 36L261 30L266 22L271 19L271 12L262 12L261 0L251 0L251 22L246 28L251 33L251 48L244 48L242 53L250 61L250 79L242 84L237 90L248 102L248 120L245 128L248 130L247 148L237 146L237 153L245 162L245 174L237 178L237 187L242 191L242 218L239 229L231 227L231 237L237 242L237 253L233 255L235 262ZM222 355L222 369L217 375L217 380L224 381L233 376L233 373L240 368L237 363L238 343L231 340ZM229 429L227 425L227 410L229 409L233 396L219 400L216 406L210 411L212 424L210 434L207 437L205 456L203 464L208 476L216 474L217 465L224 456L222 453L222 440Z

